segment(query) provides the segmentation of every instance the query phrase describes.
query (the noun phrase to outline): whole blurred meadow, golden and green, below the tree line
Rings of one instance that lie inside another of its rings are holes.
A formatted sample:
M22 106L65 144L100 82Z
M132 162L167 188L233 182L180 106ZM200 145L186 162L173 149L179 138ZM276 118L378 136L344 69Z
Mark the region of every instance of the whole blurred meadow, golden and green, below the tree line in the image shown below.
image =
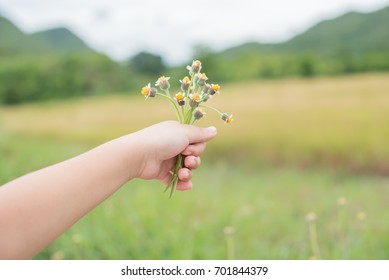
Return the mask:
M177 78L178 80L178 78ZM195 188L134 180L37 259L389 258L389 74L222 85ZM173 119L140 94L0 107L0 184Z

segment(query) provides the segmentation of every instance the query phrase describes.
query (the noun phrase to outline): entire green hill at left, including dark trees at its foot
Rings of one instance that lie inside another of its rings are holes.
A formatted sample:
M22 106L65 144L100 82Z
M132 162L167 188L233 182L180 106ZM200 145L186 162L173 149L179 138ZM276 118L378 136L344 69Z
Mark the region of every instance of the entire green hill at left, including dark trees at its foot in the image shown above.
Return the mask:
M137 78L66 28L25 34L0 17L0 104L123 91Z

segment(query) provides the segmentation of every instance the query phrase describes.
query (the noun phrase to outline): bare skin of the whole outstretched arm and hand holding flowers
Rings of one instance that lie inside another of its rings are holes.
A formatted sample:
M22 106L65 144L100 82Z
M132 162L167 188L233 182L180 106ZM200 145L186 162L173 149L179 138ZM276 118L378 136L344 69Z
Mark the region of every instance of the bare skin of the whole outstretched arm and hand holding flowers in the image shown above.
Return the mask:
M192 188L214 127L174 121L117 138L0 187L0 259L28 259L133 178L167 184L175 157L186 156L177 189Z

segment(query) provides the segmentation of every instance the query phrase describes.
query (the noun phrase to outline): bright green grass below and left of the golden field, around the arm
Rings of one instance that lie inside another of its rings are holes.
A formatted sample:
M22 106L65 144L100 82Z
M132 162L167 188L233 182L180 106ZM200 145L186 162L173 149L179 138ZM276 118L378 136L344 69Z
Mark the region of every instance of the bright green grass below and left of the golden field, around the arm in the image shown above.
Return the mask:
M44 139L2 142L3 182L76 155L85 146ZM12 157L10 155L13 155ZM10 160L12 159L12 160ZM173 199L153 181L134 180L36 259L227 259L227 227L236 259L308 259L306 215L317 215L324 259L389 257L389 180L293 167L204 163L195 188ZM337 200L346 198L345 206ZM366 219L358 221L358 213ZM316 256L315 256L316 257Z

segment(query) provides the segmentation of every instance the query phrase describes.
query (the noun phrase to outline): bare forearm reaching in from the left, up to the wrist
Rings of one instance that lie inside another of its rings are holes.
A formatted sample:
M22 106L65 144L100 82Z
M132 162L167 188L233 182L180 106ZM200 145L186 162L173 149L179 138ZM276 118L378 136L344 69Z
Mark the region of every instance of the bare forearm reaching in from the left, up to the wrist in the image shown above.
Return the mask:
M0 188L0 258L29 258L136 176L133 135Z

